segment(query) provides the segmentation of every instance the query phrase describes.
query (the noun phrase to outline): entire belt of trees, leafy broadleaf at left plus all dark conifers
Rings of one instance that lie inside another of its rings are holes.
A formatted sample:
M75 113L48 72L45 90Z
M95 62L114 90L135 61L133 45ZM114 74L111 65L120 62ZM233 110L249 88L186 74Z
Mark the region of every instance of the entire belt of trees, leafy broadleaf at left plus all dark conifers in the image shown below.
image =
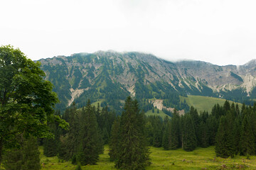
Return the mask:
M76 169L97 164L106 145L117 169L146 169L152 162L150 147L193 152L214 146L216 157L223 159L256 155L256 103L239 107L225 101L210 113L191 106L185 114L174 109L161 118L144 115L154 106L128 96L118 106L121 114L106 101L102 107L90 99L82 107L73 102L61 113L53 110L58 97L50 81L43 80L40 64L11 46L0 50L0 169L41 169L38 146L46 157L70 161Z

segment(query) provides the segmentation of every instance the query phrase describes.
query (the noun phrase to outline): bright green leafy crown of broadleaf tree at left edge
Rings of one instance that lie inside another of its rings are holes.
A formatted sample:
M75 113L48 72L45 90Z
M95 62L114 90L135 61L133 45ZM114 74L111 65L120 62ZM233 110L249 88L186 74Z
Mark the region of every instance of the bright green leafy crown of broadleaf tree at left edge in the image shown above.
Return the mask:
M50 81L38 62L28 60L18 49L0 47L0 164L3 149L13 148L16 136L26 132L36 137L53 137L48 123L67 127L53 106L58 102Z

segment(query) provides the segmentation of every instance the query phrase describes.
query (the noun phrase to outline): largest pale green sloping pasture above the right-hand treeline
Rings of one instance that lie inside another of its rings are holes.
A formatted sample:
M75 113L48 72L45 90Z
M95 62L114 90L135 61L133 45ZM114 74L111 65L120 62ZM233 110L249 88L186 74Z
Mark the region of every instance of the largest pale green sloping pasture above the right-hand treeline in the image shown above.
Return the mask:
M219 103L220 106L223 106L223 104L225 103L225 99L223 98L213 98L213 97L207 97L207 96L181 97L181 101L183 101L184 99L188 103L188 106L194 106L199 112L208 111L208 113L211 112L211 109L215 104ZM242 104L238 103L238 106L241 108Z

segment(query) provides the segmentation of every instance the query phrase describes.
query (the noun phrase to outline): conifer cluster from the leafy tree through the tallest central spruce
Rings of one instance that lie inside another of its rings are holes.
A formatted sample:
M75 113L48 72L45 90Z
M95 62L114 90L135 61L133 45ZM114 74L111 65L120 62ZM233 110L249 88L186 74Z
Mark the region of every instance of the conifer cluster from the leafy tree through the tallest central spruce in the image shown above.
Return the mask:
M69 130L60 130L58 123L50 125L55 139L43 140L44 154L57 155L73 164L96 164L103 145L110 145L110 159L118 169L144 169L149 165L146 140L146 117L139 103L128 97L121 118L90 101L81 109L75 103L63 114ZM161 124L161 120L159 120Z

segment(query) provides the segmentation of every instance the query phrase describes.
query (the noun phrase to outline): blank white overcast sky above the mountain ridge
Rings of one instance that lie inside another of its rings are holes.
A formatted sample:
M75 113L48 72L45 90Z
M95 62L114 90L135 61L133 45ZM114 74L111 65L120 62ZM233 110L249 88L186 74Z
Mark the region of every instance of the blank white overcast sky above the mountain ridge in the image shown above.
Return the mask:
M256 58L256 1L1 0L8 44L32 60L116 50L245 64Z

